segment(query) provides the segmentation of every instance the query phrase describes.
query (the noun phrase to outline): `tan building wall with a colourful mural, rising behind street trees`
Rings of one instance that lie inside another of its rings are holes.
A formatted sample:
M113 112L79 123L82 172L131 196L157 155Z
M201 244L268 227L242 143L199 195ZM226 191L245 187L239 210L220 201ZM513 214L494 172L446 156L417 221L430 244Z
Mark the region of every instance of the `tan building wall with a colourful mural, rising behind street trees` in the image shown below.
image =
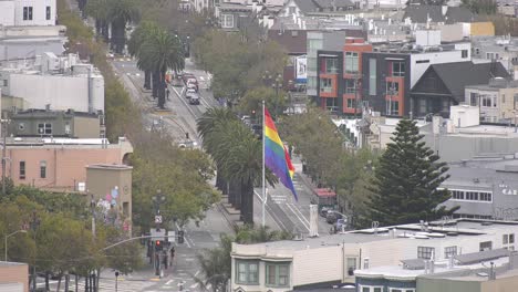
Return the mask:
M95 201L106 201L114 218L124 230L132 227L132 171L133 167L115 164L86 166L86 191Z

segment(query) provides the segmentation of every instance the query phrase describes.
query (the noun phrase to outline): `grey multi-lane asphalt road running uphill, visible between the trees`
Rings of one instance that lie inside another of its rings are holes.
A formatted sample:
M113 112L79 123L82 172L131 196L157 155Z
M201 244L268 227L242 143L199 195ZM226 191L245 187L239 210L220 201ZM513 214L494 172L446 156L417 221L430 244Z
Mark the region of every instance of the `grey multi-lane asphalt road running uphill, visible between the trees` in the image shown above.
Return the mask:
M193 73L199 83L200 104L190 105L184 96L185 88L182 86L169 86L170 96L166 101L167 111L158 111L156 101L151 97L149 92L142 90L144 74L136 67L135 61L131 59L116 59L112 62L118 73L124 86L130 92L133 101L141 106L142 115L149 129L159 128L165 131L178 142L185 140L185 133L200 144L196 132L196 119L211 106L220 106L208 90L210 80L206 72L196 70L195 65L187 60L185 72ZM296 233L309 233L309 205L312 186L301 174L301 164L293 161L298 170L294 176L294 187L299 200L296 201L291 192L282 185L270 188L266 206L266 223L271 229L288 230ZM255 221L261 222L262 204L259 197L260 189L255 199ZM329 232L330 225L319 217L319 233ZM205 221L199 227L190 223L186 227L186 242L176 247L176 258L173 269L166 270L164 278L154 275L151 267L143 271L122 277L118 291L179 291L179 284L184 283L184 291L199 291L199 285L194 277L200 277L200 268L196 261L196 254L204 249L216 247L221 232L231 232L231 229L217 209L208 211ZM101 291L114 291L115 279L113 272L104 273L101 280ZM112 289L112 290L111 290ZM123 290L126 289L126 290Z

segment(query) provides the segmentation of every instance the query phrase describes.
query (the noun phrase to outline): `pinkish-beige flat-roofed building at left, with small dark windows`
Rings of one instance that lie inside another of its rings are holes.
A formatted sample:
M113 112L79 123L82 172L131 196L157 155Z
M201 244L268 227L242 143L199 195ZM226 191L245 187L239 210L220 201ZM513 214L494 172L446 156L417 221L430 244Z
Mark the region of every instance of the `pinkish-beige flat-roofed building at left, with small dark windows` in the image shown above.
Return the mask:
M7 176L14 185L84 191L86 166L121 165L131 153L133 147L124 137L117 144L107 139L9 138Z

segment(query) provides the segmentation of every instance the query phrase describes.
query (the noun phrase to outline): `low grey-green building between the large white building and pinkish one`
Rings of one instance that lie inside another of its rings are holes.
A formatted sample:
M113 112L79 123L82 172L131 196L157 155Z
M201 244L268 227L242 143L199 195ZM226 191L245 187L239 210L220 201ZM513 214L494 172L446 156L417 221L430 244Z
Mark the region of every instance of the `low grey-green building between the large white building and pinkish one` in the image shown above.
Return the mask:
M105 137L104 116L74 111L28 109L9 114L8 135L13 137Z

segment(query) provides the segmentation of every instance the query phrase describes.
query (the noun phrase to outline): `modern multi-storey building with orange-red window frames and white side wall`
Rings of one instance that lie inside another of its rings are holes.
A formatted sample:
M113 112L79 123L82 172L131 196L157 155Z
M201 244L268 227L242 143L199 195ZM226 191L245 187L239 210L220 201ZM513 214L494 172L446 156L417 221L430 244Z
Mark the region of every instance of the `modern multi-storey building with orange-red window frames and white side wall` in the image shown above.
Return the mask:
M416 32L415 44L388 44L364 53L364 106L387 116L412 113L411 88L432 64L470 60L469 43L441 44L441 32ZM369 76L369 79L366 77Z

